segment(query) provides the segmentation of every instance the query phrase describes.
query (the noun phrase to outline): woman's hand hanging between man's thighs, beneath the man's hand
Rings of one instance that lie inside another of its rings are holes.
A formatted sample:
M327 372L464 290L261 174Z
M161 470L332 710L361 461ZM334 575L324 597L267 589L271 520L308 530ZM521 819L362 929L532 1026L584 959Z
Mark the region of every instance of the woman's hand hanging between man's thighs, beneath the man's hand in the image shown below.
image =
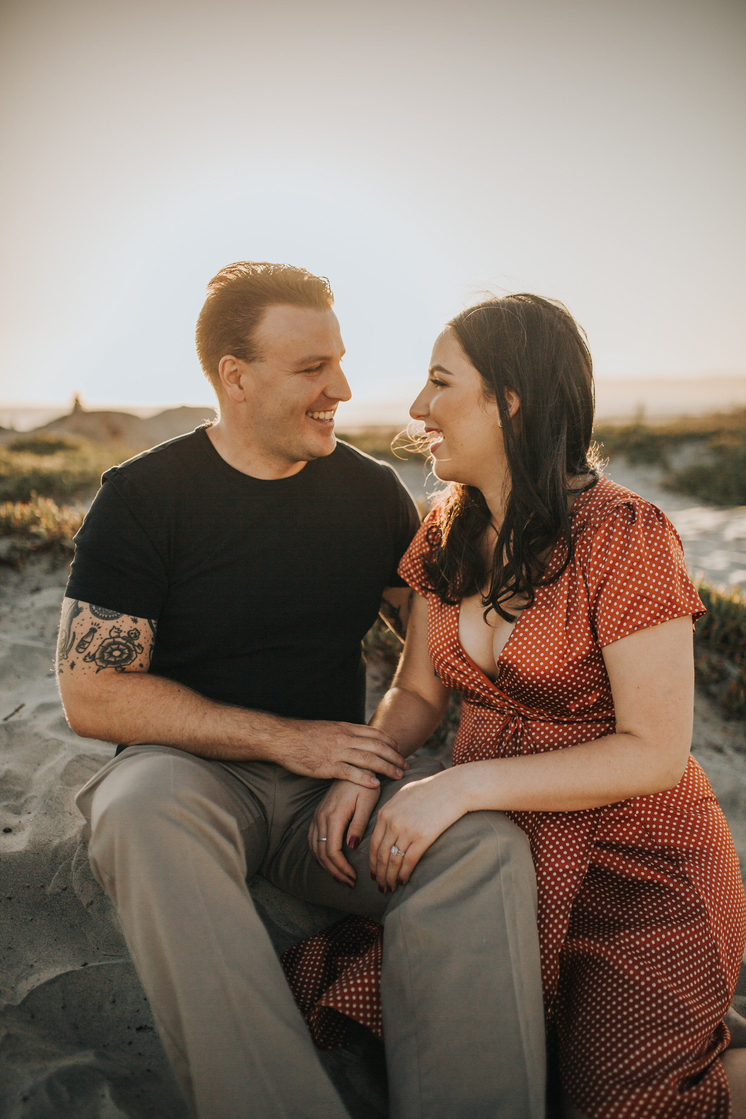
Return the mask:
M347 833L347 846L355 850L368 827L378 798L377 789L365 789L352 781L334 781L313 814L309 828L309 847L320 866L331 874L336 882L353 886L355 869L342 855L342 837ZM325 836L327 841L322 843Z

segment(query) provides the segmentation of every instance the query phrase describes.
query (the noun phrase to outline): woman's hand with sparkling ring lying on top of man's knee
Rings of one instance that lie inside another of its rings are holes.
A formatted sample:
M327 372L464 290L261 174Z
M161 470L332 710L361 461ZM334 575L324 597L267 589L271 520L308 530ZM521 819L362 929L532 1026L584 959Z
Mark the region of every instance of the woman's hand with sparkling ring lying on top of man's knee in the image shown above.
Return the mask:
M460 778L451 769L412 781L379 811L370 839L370 876L384 893L405 885L427 848L466 812ZM405 852L404 858L391 854L393 846Z

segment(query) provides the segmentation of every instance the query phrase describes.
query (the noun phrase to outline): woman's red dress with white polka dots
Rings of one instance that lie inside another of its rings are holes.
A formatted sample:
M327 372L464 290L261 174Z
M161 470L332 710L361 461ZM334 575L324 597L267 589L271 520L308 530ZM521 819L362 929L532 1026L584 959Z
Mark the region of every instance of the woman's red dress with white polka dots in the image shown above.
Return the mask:
M431 659L463 696L454 765L613 734L602 648L703 613L670 521L601 478L573 506L570 564L519 614L493 684L461 647L459 604L427 590L423 560L437 516L425 519L399 574L427 599ZM559 544L547 574L563 557ZM717 1057L728 1044L723 1017L744 952L746 900L700 767L690 756L676 788L605 808L507 815L531 843L547 1021L570 1099L589 1119L727 1119ZM369 980L379 952L374 944L363 957ZM342 1009L344 993L342 972L325 1005ZM370 1022L372 1000L362 1015L342 1013Z

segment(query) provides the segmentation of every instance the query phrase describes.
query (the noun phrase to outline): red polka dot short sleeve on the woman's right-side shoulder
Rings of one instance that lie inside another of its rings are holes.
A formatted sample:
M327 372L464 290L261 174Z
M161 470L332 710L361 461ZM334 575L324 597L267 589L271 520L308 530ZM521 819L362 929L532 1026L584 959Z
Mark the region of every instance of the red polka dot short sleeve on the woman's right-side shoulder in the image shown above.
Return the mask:
M692 615L705 606L687 574L668 517L648 501L625 501L595 533L587 567L591 620L598 645Z

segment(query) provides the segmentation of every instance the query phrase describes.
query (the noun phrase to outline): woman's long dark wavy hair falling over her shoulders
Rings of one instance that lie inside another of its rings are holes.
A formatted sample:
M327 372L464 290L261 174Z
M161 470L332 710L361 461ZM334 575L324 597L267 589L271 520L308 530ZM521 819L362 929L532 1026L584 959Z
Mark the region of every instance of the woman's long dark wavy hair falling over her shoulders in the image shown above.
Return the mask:
M507 295L462 311L448 326L482 377L484 395L497 401L510 491L492 568L481 542L491 523L480 490L452 483L429 528L425 573L444 602L481 593L506 621L502 603L520 595L531 605L537 586L554 583L573 556L568 496L598 479L589 457L594 389L591 354L582 330L561 303L539 295ZM506 393L520 401L513 425ZM587 482L578 489L578 476ZM573 485L570 481L573 480ZM566 543L564 563L544 576L547 553Z

